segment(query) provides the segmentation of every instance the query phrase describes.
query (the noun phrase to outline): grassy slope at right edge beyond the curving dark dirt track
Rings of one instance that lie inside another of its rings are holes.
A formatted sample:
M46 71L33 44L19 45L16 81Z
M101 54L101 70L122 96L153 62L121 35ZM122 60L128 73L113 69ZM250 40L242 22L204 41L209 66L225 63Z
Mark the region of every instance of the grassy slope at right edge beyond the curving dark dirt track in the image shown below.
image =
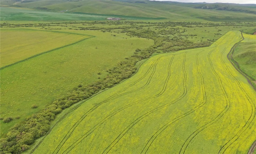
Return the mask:
M244 34L245 40L236 47L233 58L241 69L254 79L256 86L256 35Z

